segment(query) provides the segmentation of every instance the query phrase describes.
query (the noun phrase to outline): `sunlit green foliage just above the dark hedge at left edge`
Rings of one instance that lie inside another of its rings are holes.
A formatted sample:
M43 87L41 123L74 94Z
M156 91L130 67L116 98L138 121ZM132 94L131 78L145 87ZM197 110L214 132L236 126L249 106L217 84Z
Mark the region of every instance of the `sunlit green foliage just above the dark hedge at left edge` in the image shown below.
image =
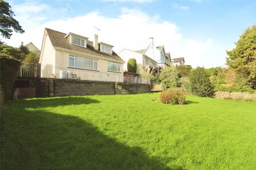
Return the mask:
M6 44L0 44L0 52L21 61L25 58L25 54L21 49L7 46Z

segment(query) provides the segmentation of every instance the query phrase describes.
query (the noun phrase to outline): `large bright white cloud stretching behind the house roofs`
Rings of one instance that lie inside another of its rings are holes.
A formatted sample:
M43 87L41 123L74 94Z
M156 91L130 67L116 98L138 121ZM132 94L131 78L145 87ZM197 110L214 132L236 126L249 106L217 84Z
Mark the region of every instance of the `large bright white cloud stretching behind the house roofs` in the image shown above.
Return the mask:
M24 16L23 16L24 17ZM33 18L33 16L29 16ZM27 19L20 17L21 22ZM93 38L99 31L99 41L113 44L116 52L123 48L140 50L148 45L148 38L154 37L154 44L165 45L166 52L171 52L172 58L184 56L186 64L193 67L202 66L202 62L211 62L207 56L213 41L209 38L203 42L184 38L179 27L174 23L162 21L159 15L150 16L139 9L123 8L118 17L105 17L98 12L91 12L79 17L59 19L50 22L37 22L35 25L23 25L24 34L14 33L10 40L4 40L12 46L19 46L23 41L25 44L33 42L41 48L44 28L48 27L63 33L76 33ZM207 57L207 58L206 58ZM211 64L211 63L210 63Z

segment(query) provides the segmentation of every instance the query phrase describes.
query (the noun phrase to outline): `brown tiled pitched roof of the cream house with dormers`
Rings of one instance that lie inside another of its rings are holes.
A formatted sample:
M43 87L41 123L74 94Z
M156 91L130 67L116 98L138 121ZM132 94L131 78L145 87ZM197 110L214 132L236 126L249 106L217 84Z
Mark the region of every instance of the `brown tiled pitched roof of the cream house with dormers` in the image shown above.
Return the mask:
M81 47L76 46L74 44L70 44L69 41L65 38L67 34L61 33L59 31L51 30L46 28L46 32L49 35L51 44L53 44L54 47L63 48L66 50L71 51L77 51L77 52L83 52L85 54L91 54L95 56L101 56L106 59L114 59L114 60L123 60L113 51L113 54L107 54L106 52L101 52L99 50L95 50L93 47L93 42L87 40L87 46Z

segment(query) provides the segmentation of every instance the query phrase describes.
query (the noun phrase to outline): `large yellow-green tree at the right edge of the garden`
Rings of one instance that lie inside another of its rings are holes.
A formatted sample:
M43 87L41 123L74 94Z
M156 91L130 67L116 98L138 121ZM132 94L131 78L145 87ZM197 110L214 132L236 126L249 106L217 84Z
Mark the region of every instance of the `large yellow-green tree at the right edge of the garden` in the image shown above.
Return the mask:
M229 55L226 59L229 67L234 68L238 75L243 76L256 88L256 25L245 30L240 39L235 43L236 47L226 51Z

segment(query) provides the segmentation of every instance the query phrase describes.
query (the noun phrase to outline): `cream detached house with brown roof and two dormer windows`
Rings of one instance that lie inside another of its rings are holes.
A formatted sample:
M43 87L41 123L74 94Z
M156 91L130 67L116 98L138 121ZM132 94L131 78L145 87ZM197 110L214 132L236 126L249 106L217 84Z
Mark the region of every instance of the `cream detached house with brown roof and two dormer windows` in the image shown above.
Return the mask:
M39 59L41 77L123 82L124 61L110 44L74 33L45 29Z

